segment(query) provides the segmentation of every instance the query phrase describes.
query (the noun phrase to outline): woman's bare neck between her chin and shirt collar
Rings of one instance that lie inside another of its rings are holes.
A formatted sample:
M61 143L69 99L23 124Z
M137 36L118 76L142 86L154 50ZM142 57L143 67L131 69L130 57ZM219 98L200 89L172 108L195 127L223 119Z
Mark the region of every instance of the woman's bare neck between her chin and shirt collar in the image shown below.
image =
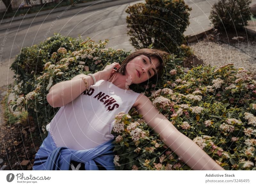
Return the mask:
M129 86L131 81L128 81L128 77L126 77L126 75L122 75L119 72L115 73L108 81L120 89L130 89Z

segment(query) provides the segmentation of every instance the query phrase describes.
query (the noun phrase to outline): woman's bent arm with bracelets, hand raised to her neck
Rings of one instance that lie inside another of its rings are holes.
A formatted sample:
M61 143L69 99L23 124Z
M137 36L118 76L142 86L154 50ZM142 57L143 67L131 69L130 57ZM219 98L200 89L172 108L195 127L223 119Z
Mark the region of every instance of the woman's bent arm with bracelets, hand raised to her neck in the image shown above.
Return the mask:
M93 75L96 81L108 80L109 77L116 72L116 70L113 69L114 67L117 67L117 69L120 68L119 63L114 62L106 66L103 71L94 73ZM85 74L79 74L71 80L59 82L52 86L46 96L49 105L54 108L61 107L73 101L74 99L76 99L76 97L82 94L84 90L87 89L87 87L85 86L84 81L80 77L85 77L89 87L93 85L92 77Z

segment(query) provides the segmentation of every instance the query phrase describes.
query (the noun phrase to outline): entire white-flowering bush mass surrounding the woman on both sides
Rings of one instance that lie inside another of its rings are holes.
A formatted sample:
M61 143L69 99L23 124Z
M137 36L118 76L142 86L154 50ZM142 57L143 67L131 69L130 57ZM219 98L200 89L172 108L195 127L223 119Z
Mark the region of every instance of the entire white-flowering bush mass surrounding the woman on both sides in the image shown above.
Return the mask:
M107 42L95 43L88 38L80 43L78 51L59 48L44 64L42 75L36 75L31 84L33 91L10 102L14 110L25 107L29 115L34 116L43 139L47 136L45 126L59 109L52 108L46 100L52 85L77 74L95 73L114 61L124 61L130 54L120 49L105 49ZM175 56L168 56L162 81L132 85L131 89L148 96L180 132L193 139L225 169L254 170L256 82L248 77L247 71L236 69L233 64L216 70L211 66L197 66L185 74L180 62ZM84 71L85 66L89 71ZM120 122L120 114L116 117L116 123ZM126 128L136 121L139 123L136 127L142 136L137 141L129 131L117 133L113 129L115 136L120 135L115 141L116 169L189 170L141 117L132 108L121 118Z

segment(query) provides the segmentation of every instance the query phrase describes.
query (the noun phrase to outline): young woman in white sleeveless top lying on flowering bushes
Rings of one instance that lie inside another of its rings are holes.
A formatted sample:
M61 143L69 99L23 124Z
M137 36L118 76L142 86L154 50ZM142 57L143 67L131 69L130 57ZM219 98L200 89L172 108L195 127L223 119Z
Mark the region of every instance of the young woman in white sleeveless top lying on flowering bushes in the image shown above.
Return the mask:
M167 145L194 170L224 170L196 143L179 132L143 94L129 85L160 76L163 56L156 49L140 49L121 64L100 72L80 74L55 84L47 95L61 107L47 125L49 134L36 153L34 170L114 170L111 134L115 115L132 107ZM116 69L114 69L116 68Z

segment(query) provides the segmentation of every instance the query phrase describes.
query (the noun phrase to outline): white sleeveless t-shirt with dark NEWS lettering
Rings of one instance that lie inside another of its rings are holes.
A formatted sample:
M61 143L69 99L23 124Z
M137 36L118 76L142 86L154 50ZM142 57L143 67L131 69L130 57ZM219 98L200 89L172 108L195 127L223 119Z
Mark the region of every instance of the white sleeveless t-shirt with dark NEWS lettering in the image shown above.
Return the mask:
M85 150L113 139L115 115L128 113L140 94L100 80L60 107L46 126L56 147Z

